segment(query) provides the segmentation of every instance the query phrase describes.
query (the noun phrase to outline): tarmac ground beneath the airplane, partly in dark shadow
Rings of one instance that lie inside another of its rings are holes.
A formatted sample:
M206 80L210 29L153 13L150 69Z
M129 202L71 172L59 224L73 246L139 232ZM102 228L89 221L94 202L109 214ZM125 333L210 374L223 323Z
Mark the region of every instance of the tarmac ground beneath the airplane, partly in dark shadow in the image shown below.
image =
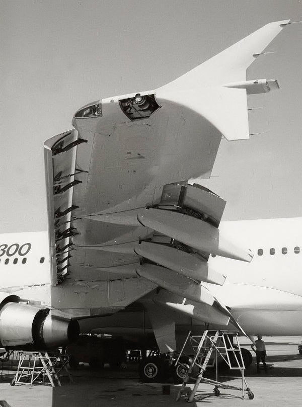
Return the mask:
M254 393L250 400L242 392L232 389L220 389L215 396L213 386L200 384L192 407L204 405L223 407L291 407L301 405L302 399L302 355L297 344L300 337L264 337L267 349L268 374L263 370L256 374L255 357L252 365L246 369L248 386ZM249 342L241 340L243 347L249 348ZM68 377L61 376L61 387L46 385L10 385L13 372L3 371L0 377L0 406L10 407L141 407L152 404L153 407L186 405L184 398L176 401L180 384L144 383L138 378L137 364L127 363L120 370L92 370L88 364L80 364L71 371L74 384L68 383ZM237 372L226 372L219 376L225 384L241 386L241 377ZM163 384L170 386L170 394L163 394ZM193 383L189 386L192 388ZM3 401L1 401L3 400ZM4 400L7 404L4 403Z

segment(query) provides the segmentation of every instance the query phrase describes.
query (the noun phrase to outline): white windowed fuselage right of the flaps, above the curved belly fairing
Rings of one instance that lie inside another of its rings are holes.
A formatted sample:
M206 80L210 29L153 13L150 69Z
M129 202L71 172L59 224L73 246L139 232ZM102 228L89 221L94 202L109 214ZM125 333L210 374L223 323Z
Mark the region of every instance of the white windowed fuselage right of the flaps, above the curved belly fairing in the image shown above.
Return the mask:
M302 218L221 222L219 230L254 253L251 264L210 256L209 265L227 277L225 287L246 284L302 295Z

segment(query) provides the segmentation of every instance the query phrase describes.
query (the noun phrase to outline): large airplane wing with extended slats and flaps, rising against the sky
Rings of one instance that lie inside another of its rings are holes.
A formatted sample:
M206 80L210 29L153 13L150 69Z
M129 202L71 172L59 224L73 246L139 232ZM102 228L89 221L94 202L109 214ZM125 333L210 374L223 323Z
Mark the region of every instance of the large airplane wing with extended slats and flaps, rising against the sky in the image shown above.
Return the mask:
M150 314L163 305L230 321L202 285L225 279L207 259L252 254L219 232L225 202L188 180L210 176L221 137L249 137L247 95L277 82L247 81L246 69L287 23L266 25L155 91L86 105L75 129L45 142L53 286L85 289L91 314L146 296Z

